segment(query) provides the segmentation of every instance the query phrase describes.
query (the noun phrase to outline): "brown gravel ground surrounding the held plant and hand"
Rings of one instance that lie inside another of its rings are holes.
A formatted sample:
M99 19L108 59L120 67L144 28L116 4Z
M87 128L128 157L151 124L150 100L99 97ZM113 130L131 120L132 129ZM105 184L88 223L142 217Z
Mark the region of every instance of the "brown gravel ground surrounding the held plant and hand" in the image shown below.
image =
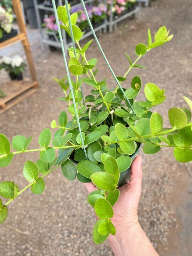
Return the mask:
M146 43L148 27L155 32L160 26L166 25L174 33L170 43L149 52L140 61L139 64L147 68L132 70L127 80L130 84L133 76L139 74L143 85L154 82L166 90L166 102L156 107L165 120L165 126L169 125L168 108L185 107L182 96L192 96L191 12L191 0L154 1L151 7L142 9L139 19L126 20L118 25L118 30L100 37L109 62L115 73L121 76L128 67L124 52L135 58L134 47L138 43ZM41 87L0 116L0 131L10 140L16 134L32 135L31 148L37 146L39 132L49 127L50 122L67 107L65 103L56 101L62 91L53 81L54 76L62 78L65 75L61 52L42 53L39 44L36 44L33 46L33 56ZM115 82L94 42L88 58L95 56L98 58L101 79L108 77L108 84L113 88ZM5 77L5 74L2 76ZM89 86L84 86L84 91L87 94ZM140 93L139 100L143 99L144 94ZM25 161L36 161L37 158L36 153L16 155L9 168L1 169L0 180L14 180L20 188L26 186L22 166ZM139 220L151 242L160 251L162 244L167 244L169 231L179 225L176 213L170 207L170 204L174 204L174 200L170 201L172 188L180 189L181 175L186 180L192 176L191 165L177 163L172 149L162 149L157 155L144 156L143 171ZM113 255L108 242L99 246L92 242L95 217L86 202L85 188L78 181L65 180L59 169L48 175L45 181L46 190L42 195L26 191L9 204L9 216L0 229L0 255ZM169 244L166 246L169 247Z

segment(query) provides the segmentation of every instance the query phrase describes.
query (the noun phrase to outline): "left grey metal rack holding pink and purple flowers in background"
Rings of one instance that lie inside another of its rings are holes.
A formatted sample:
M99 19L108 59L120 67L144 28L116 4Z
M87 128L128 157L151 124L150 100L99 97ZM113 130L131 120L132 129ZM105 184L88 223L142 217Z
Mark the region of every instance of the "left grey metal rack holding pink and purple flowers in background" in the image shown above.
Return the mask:
M85 2L85 4L88 4L88 3L93 2L93 1L94 0L86 0L84 2ZM44 35L43 29L42 29L42 24L41 24L41 19L40 19L40 12L39 12L40 10L54 12L53 7L46 7L43 4L38 4L37 0L33 0L33 2L34 2L36 16L37 16L37 24L38 24L38 28L39 28L39 32L40 32L40 36L41 36L41 47L42 47L42 49L44 50L44 45L45 44L47 44L49 46L54 46L54 47L60 48L61 47L60 41L59 41L59 39L57 38L57 36L54 32L49 32L49 34L54 36L55 41L48 39L46 37L46 35ZM106 2L106 0L105 0L105 2ZM63 5L62 0L59 0L58 3L59 3L59 5ZM81 2L72 5L72 7L80 6L80 5L81 5ZM105 19L101 25L94 28L95 32L97 32L97 31L102 32L102 30L103 30L104 33L106 33L106 31L107 31L107 19ZM81 40L86 38L86 37L91 36L91 34L92 34L91 30L86 32L82 36ZM64 45L64 49L65 49L65 54L68 55L68 48L72 46L72 41L71 40L70 40L70 42L67 41L66 32L64 30L62 30L62 37L63 37L63 45Z

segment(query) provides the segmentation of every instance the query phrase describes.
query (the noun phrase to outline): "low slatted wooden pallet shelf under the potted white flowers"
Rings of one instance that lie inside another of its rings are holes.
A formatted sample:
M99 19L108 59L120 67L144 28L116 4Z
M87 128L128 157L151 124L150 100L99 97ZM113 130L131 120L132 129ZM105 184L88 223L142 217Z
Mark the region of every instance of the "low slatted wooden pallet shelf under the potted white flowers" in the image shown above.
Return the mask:
M37 81L31 81L28 79L3 83L0 89L6 93L6 96L4 98L0 98L0 114L23 100L23 98L31 95L37 90L37 87Z

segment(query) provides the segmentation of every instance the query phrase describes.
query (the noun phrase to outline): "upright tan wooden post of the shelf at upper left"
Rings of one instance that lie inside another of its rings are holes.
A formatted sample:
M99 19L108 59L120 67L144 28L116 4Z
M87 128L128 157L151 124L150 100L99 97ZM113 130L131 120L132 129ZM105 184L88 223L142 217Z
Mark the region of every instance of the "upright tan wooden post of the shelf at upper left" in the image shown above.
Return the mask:
M36 71L34 69L33 57L32 57L32 54L31 54L30 44L29 44L29 41L28 41L28 38L27 38L27 30L26 30L24 19L23 19L20 0L13 0L12 2L13 2L14 12L15 12L15 15L16 15L19 30L20 30L21 33L24 33L26 35L26 37L22 40L22 44L23 44L23 47L25 49L25 54L26 54L27 61L28 61L28 64L29 64L31 76L32 76L32 79L34 81L37 81L37 75L36 75ZM36 85L36 87L37 86L38 86L38 84Z

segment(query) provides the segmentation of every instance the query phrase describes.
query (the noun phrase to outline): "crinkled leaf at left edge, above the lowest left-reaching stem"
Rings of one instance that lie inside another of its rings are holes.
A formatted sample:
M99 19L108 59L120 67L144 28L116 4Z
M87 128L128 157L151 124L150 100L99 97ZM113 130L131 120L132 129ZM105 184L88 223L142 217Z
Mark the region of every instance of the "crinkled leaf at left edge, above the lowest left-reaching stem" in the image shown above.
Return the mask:
M4 198L13 198L14 197L14 190L19 192L18 186L13 181L2 181L0 182L0 196Z

